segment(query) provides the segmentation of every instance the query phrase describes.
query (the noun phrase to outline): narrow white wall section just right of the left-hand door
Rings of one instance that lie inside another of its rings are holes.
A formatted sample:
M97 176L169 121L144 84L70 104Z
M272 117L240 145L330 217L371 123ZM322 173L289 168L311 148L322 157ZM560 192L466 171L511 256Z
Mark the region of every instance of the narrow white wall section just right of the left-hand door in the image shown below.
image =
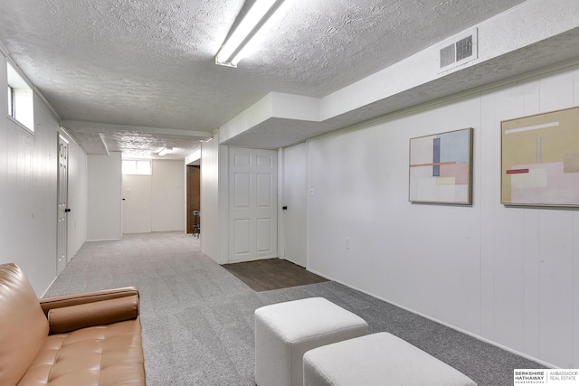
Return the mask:
M88 155L88 240L121 238L121 154Z

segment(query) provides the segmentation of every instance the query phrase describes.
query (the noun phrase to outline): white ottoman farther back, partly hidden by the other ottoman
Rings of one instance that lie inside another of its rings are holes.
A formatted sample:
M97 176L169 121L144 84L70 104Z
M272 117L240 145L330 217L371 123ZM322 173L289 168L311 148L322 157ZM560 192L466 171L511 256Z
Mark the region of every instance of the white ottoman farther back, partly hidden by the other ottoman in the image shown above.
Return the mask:
M364 319L323 297L255 310L255 383L301 385L304 353L367 333Z

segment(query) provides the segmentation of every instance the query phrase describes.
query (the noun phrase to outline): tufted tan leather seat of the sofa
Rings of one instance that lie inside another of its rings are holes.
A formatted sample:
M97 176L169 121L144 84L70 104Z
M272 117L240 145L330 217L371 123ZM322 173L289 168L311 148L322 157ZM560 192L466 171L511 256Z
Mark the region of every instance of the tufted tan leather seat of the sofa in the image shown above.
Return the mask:
M18 386L49 383L74 386L145 385L139 318L48 336Z

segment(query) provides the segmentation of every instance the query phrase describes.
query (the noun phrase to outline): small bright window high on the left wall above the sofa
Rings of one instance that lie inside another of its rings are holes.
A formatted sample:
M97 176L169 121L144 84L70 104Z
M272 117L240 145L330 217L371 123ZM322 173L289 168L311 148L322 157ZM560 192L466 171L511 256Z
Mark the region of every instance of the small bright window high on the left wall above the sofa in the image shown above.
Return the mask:
M13 118L21 126L34 131L33 89L7 64L8 75L8 117Z

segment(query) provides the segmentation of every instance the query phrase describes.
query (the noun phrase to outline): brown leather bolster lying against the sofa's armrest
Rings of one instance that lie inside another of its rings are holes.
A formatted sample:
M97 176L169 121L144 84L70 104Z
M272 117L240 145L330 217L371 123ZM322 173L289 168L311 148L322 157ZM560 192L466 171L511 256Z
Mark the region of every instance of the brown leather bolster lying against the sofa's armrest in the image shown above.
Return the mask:
M53 308L48 312L51 334L68 333L92 325L135 319L138 316L138 296L119 297L77 306Z

